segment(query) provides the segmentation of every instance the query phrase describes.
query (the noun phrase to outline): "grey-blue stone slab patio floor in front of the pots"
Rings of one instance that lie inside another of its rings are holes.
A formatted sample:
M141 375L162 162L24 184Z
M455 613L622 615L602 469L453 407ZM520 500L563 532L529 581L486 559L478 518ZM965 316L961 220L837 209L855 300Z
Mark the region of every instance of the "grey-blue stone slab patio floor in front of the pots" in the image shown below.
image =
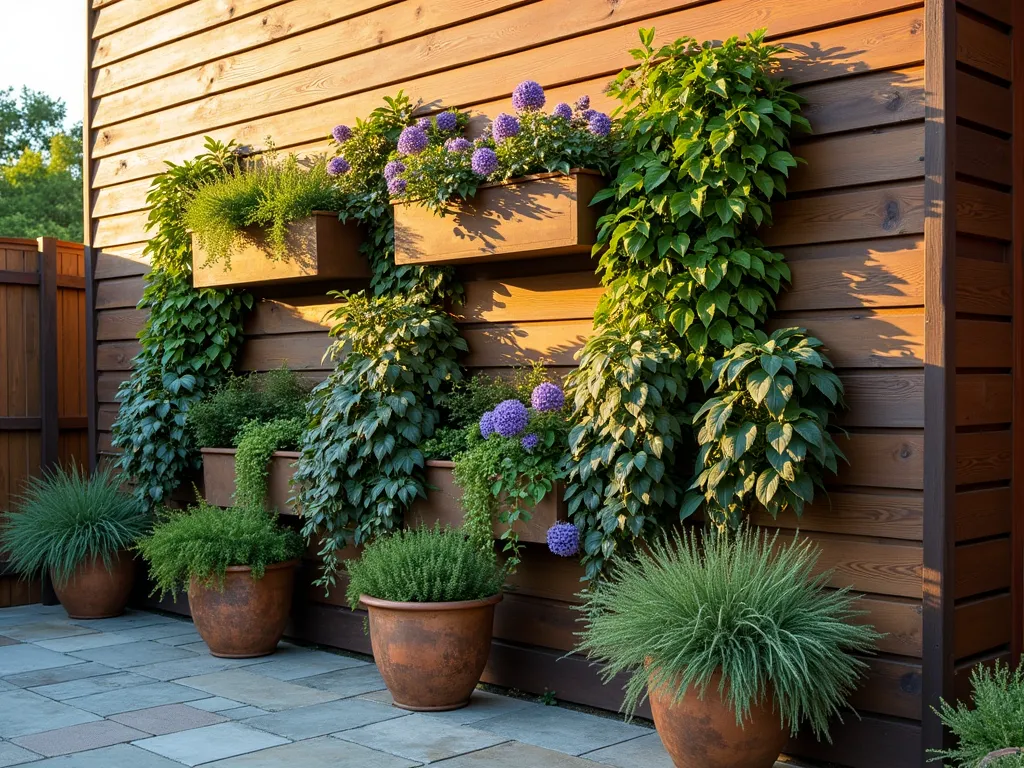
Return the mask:
M283 643L215 658L191 623L0 609L0 768L671 768L642 724L477 690L391 706L370 659Z

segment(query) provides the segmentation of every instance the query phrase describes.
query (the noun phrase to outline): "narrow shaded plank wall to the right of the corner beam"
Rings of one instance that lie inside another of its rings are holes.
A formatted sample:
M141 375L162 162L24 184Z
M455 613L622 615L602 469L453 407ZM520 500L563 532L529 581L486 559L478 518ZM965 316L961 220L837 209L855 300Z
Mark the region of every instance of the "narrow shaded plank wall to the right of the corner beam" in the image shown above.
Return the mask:
M1011 0L957 3L954 688L1010 655L1013 499Z

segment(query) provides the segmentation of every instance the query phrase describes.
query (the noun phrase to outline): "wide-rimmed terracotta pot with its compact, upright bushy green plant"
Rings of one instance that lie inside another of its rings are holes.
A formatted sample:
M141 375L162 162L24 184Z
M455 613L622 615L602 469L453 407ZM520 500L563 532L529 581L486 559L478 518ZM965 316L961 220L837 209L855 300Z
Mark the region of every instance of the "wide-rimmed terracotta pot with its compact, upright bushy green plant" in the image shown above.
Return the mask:
M467 706L502 599L505 569L495 555L435 525L378 539L346 567L349 605L370 613L374 659L395 707Z

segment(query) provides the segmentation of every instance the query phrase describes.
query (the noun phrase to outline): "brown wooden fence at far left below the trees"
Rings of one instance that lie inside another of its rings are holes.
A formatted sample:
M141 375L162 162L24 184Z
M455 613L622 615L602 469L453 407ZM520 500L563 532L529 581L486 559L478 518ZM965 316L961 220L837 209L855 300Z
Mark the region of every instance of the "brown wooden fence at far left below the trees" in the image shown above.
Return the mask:
M88 456L85 254L53 238L0 238L0 510L43 469ZM39 600L5 573L0 608Z

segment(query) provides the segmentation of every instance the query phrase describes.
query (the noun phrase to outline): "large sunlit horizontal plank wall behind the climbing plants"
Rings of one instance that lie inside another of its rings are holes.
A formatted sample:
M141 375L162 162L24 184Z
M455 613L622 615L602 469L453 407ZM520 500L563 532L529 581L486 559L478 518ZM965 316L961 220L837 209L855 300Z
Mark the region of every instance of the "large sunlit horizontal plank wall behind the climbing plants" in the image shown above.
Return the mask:
M980 1L980 0L979 0ZM809 99L809 162L765 232L794 271L776 325L829 346L851 410L830 503L801 521L824 549L833 583L864 593L887 633L855 703L862 719L836 743L798 740L801 756L850 766L920 766L924 428L924 10L913 0L93 0L90 207L96 263L98 447L109 452L115 392L138 350L134 306L146 266L145 191L164 161L203 137L310 152L403 88L431 109L493 117L532 78L549 100L589 93L631 63L636 29L658 39L721 39L767 27L790 49L785 75ZM988 83L985 86L988 87ZM996 164L998 165L998 164ZM987 188L985 189L987 193ZM552 273L554 272L554 273ZM591 330L599 288L586 260L467 271L460 323L474 369L543 359L560 372ZM997 278L995 279L997 282ZM1005 284L1008 285L1008 284ZM287 362L324 375L323 294L264 301L242 366ZM972 310L974 311L974 310ZM968 322L967 319L965 322ZM971 321L975 322L975 321ZM1007 330L1004 329L1004 330ZM965 380L967 382L967 380ZM986 380L987 381L987 380ZM988 400L986 400L988 401ZM998 430L996 430L998 431ZM965 443L969 445L970 443ZM770 520L761 520L772 524ZM774 523L784 535L795 519ZM488 679L615 706L614 689L571 659L579 568L529 549L498 613ZM338 596L311 592L297 631L367 647Z

